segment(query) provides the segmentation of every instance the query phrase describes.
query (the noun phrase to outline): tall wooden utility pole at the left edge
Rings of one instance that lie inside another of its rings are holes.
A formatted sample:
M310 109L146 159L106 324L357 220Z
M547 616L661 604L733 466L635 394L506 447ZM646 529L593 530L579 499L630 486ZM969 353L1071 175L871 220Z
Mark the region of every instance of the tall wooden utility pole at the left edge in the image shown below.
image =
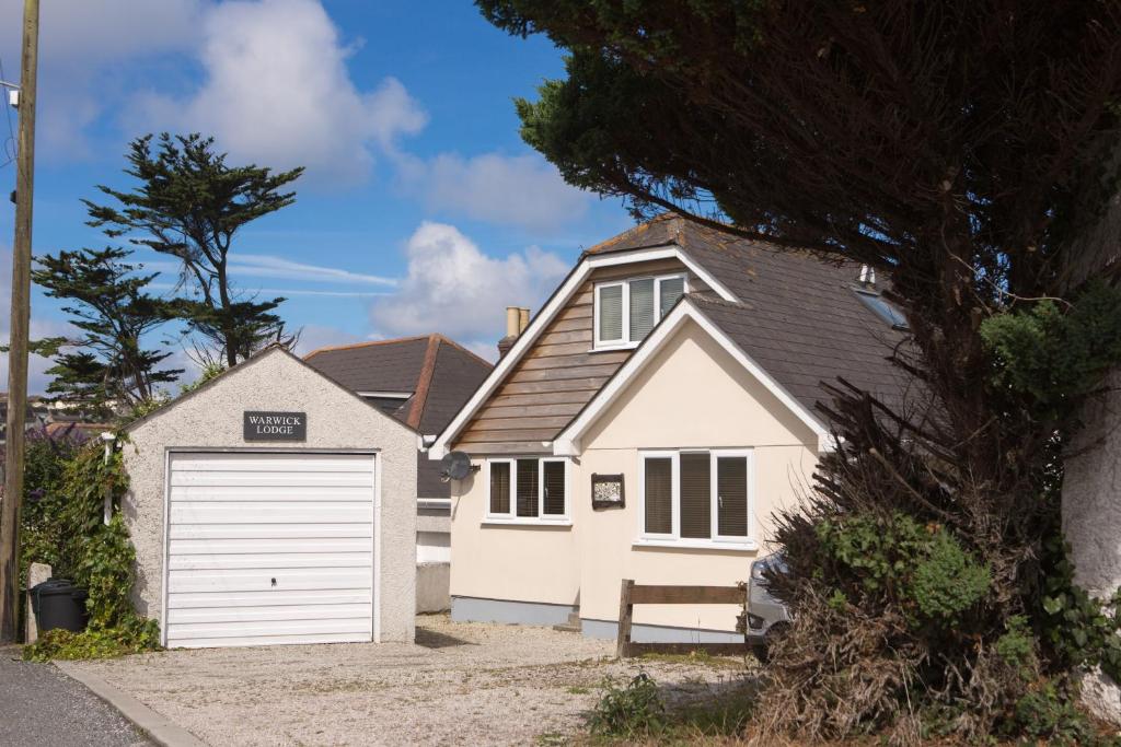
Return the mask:
M24 421L31 317L31 195L35 186L35 88L39 0L24 0L19 136L16 153L16 242L11 250L11 337L8 349L8 440L0 501L0 643L15 643L19 609L19 503L24 495ZM0 102L7 105L7 102Z

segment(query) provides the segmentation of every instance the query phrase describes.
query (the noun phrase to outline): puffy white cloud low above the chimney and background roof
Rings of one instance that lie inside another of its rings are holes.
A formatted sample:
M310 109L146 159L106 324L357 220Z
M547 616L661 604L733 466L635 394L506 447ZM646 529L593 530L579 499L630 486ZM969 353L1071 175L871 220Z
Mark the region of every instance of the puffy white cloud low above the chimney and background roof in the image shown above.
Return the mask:
M536 308L568 271L559 256L537 248L506 258L487 255L455 226L442 223L423 223L406 253L408 274L398 292L370 309L374 333L439 332L478 352L492 351L502 336L507 306Z

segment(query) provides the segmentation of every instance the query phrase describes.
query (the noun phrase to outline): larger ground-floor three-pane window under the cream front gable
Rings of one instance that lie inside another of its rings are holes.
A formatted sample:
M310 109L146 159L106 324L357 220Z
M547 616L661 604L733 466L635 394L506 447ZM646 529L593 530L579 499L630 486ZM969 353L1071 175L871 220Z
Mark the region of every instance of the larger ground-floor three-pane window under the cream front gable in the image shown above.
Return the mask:
M639 538L683 544L748 543L751 449L639 454Z

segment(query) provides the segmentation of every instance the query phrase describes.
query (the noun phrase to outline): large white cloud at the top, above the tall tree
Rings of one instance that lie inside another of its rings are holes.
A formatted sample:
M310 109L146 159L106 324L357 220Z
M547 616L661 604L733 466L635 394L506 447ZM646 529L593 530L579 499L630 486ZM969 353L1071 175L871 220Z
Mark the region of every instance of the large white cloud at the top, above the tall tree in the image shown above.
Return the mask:
M332 186L365 179L377 151L427 121L393 77L355 87L351 50L315 0L223 2L204 13L202 36L202 86L185 99L139 96L136 119L213 133L238 159L306 166L307 180Z

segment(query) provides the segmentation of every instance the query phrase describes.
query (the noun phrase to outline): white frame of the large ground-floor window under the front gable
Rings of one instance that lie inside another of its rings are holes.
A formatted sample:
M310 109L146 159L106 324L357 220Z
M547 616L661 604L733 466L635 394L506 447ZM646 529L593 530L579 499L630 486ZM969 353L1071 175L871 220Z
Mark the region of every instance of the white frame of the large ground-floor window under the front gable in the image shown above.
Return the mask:
M680 495L680 457L683 454L708 454L710 489L712 495L708 502L712 515L710 519L711 536L708 539L682 538L682 495ZM748 480L748 525L747 534L724 535L720 534L720 495L716 460L721 457L742 457L747 459ZM658 534L646 531L646 460L647 459L670 460L670 515L671 532L669 534ZM758 550L759 543L754 540L754 505L756 505L756 459L754 449L712 449L712 448L683 448L683 449L642 449L638 455L638 538L634 540L636 547L673 547L673 548L721 548L730 550ZM489 494L488 494L489 495Z

